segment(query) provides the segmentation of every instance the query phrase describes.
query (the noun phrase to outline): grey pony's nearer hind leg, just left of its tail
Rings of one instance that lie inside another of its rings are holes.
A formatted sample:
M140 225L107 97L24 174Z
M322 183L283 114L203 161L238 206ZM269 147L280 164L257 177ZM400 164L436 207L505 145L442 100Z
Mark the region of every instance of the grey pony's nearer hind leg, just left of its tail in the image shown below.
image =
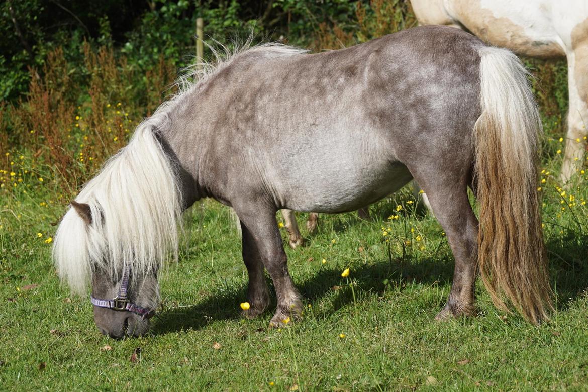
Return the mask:
M429 195L433 212L445 230L455 257L451 291L435 319L475 314L478 221L467 197L469 181L447 174L426 178L415 176L415 179Z

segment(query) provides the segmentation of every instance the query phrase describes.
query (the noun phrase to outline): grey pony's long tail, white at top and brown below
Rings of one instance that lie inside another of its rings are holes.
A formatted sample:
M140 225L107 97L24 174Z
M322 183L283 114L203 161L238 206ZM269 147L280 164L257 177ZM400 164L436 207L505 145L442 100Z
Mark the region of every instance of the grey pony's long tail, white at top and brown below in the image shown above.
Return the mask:
M474 138L479 266L496 306L504 298L538 323L552 309L537 193L541 122L527 71L506 49L480 49Z

